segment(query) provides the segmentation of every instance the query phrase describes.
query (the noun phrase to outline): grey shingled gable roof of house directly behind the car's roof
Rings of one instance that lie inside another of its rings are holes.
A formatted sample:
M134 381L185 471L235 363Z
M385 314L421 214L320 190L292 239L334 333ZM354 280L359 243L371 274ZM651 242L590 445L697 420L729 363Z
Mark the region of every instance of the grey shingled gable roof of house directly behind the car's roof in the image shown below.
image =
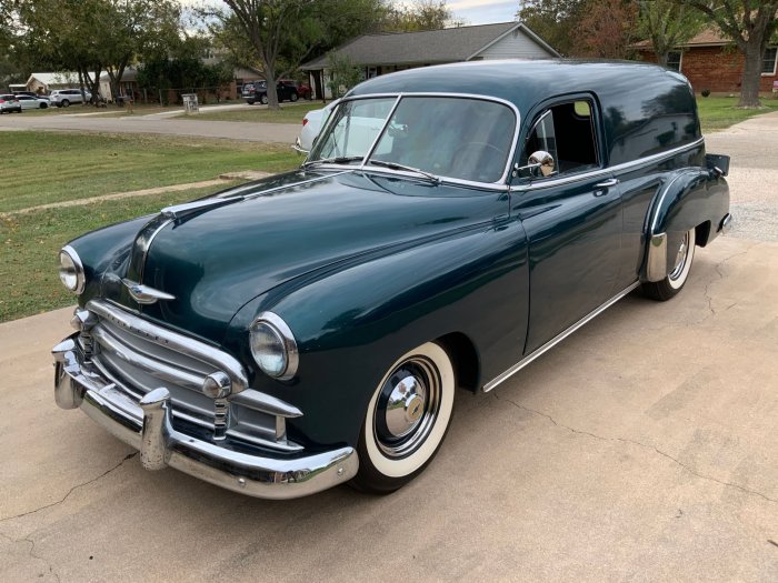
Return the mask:
M543 48L549 57L559 53L521 22L498 22L421 32L363 34L337 49L362 64L413 64L467 61L513 30L521 30ZM305 63L303 71L327 66L327 56Z

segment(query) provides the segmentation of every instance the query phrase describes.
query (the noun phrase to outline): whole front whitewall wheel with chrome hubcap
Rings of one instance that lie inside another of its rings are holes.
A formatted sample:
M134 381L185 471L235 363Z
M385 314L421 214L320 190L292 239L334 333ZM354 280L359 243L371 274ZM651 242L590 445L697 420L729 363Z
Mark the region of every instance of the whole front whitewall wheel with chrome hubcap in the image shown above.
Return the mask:
M455 374L446 351L427 342L391 365L376 389L357 444L352 485L388 494L432 461L453 411Z

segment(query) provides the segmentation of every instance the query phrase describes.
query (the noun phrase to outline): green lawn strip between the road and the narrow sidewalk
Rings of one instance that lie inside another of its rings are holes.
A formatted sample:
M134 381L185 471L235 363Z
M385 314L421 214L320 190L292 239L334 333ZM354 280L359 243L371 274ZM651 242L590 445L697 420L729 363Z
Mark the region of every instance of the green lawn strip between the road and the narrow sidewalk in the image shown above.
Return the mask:
M223 172L282 172L300 164L287 144L143 134L3 134L0 212L100 194L211 180Z

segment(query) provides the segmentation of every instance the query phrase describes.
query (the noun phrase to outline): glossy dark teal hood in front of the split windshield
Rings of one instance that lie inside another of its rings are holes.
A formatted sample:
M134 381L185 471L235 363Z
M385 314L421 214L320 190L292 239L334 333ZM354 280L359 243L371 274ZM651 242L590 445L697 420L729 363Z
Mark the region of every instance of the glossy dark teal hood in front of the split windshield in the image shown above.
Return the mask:
M353 171L293 172L215 198L223 204L153 224L144 258L138 242L151 229L141 230L121 274L173 300L139 306L123 287L112 298L215 342L242 305L296 278L507 211L498 192Z

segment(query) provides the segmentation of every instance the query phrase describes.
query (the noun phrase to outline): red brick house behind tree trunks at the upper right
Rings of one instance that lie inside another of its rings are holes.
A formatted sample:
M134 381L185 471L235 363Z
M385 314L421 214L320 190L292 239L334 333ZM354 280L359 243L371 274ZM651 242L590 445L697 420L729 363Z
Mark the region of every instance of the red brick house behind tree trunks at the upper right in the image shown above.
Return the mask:
M632 46L644 61L656 62L651 43L639 42ZM769 92L776 74L778 47L770 46L765 51L761 63L760 91ZM706 29L691 40L679 44L670 52L668 68L684 73L695 91L709 89L714 93L737 93L740 91L744 56L735 43L724 37L718 29Z

